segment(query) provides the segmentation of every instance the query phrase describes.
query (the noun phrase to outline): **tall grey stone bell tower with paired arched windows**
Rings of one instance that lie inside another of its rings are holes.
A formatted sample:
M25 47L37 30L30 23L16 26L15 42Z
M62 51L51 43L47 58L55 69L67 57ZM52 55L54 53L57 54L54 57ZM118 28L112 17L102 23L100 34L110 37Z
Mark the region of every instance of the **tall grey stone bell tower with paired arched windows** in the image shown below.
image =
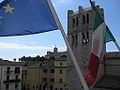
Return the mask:
M103 9L96 6L103 15ZM83 76L88 71L90 49L92 44L94 11L92 8L79 6L77 12L68 10L68 40L80 66ZM68 52L68 88L69 90L83 90L75 67Z

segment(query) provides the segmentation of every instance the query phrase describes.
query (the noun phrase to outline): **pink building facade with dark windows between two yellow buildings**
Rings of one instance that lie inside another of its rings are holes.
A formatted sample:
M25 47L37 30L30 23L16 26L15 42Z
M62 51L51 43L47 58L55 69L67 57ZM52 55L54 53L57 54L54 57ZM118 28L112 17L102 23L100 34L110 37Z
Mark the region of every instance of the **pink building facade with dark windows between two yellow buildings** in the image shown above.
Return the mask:
M54 63L48 61L42 64L42 90L54 90Z

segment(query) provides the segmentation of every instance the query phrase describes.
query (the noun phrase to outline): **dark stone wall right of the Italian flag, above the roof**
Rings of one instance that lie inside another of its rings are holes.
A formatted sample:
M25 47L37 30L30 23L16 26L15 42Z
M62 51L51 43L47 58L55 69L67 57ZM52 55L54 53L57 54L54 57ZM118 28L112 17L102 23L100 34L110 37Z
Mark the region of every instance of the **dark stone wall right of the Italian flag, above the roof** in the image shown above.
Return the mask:
M120 52L105 54L105 74L120 76Z

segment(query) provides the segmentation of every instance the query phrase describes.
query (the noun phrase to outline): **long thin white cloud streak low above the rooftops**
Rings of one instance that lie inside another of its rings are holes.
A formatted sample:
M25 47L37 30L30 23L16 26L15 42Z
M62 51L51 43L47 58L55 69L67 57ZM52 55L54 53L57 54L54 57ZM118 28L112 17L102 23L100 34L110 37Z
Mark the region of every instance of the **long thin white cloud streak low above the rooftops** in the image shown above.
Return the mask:
M21 50L51 50L54 47L51 46L27 46L17 43L5 43L0 42L0 49L21 49ZM65 50L64 47L58 47L60 50Z

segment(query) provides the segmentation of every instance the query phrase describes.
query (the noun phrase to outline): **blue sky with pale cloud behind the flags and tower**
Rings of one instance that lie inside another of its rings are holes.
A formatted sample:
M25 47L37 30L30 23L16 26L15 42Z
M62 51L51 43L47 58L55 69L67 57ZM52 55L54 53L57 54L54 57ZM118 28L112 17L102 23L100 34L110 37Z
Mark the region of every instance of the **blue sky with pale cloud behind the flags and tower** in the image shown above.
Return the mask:
M0 0L0 2L3 0ZM67 34L67 10L78 11L78 7L90 7L89 0L51 0L61 24ZM94 0L104 8L105 23L120 45L120 0ZM12 61L22 56L44 56L47 51L66 51L66 44L59 30L14 37L0 37L0 58ZM107 51L118 51L113 42L107 43Z

